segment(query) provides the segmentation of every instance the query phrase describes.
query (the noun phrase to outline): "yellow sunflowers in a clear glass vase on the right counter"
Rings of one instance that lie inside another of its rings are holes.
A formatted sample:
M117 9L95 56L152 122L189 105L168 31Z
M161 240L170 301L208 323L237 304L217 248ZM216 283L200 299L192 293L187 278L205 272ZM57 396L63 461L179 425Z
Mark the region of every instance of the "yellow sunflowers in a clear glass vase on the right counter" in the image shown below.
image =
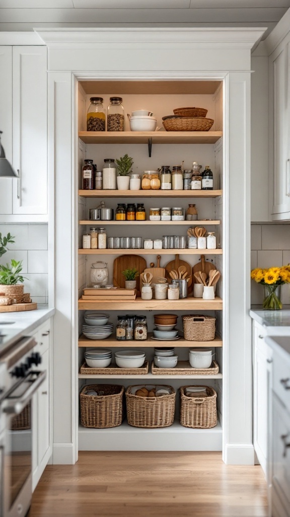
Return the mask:
M264 286L263 308L271 311L282 309L281 285L290 283L290 265L252 269L251 278Z

